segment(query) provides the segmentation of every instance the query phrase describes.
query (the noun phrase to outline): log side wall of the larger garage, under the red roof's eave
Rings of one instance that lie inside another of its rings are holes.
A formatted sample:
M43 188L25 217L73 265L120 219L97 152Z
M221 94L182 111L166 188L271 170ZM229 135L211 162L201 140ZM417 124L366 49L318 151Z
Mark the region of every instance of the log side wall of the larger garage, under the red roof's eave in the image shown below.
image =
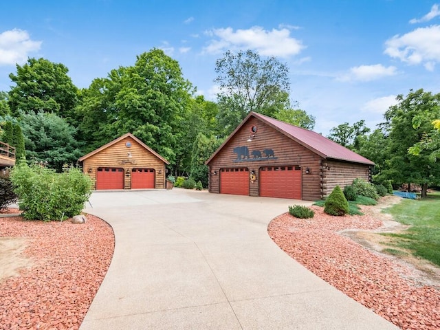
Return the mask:
M371 181L370 166L366 164L324 160L321 170L322 197L330 195L336 186L340 186L341 189L344 189L345 186L351 185L353 180L358 177L365 181Z

